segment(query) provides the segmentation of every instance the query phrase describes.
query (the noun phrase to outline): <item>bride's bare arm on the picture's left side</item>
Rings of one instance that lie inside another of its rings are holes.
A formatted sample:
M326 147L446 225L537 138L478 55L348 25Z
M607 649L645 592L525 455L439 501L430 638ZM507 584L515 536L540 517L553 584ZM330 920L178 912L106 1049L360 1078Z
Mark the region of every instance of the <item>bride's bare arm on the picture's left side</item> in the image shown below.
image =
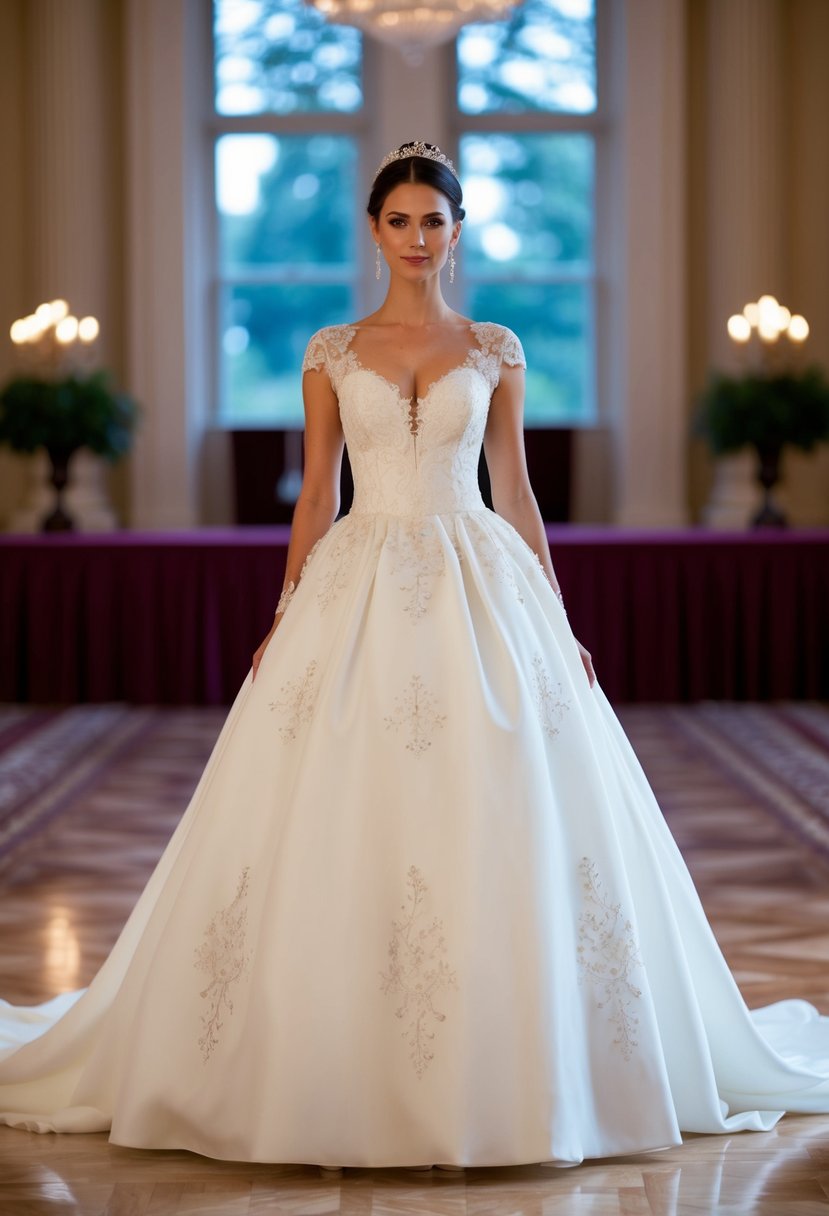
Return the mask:
M291 542L286 561L283 593L280 597L267 637L253 655L253 679L267 643L276 632L284 608L299 576L305 558L321 536L328 531L339 511L339 477L343 463L343 426L337 395L325 371L308 371L303 376L305 405L305 467L303 488L297 499L291 525Z

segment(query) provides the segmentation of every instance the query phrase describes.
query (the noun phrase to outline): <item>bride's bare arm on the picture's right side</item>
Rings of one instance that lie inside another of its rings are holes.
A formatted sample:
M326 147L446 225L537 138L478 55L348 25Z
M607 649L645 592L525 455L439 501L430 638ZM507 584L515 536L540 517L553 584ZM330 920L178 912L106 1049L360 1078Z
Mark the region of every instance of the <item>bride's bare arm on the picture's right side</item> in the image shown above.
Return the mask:
M490 472L492 506L537 556L551 587L560 597L562 589L549 556L547 534L526 472L523 367L501 368L501 381L490 404L484 451ZM596 672L591 655L581 642L576 644L592 686Z

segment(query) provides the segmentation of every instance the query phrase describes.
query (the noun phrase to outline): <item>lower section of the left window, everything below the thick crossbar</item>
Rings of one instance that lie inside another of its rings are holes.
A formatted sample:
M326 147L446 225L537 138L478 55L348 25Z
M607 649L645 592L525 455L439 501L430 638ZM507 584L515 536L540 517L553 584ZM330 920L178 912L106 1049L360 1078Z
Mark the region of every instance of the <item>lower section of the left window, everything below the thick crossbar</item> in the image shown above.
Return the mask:
M353 314L356 141L220 135L220 415L301 422L299 368L314 330Z

